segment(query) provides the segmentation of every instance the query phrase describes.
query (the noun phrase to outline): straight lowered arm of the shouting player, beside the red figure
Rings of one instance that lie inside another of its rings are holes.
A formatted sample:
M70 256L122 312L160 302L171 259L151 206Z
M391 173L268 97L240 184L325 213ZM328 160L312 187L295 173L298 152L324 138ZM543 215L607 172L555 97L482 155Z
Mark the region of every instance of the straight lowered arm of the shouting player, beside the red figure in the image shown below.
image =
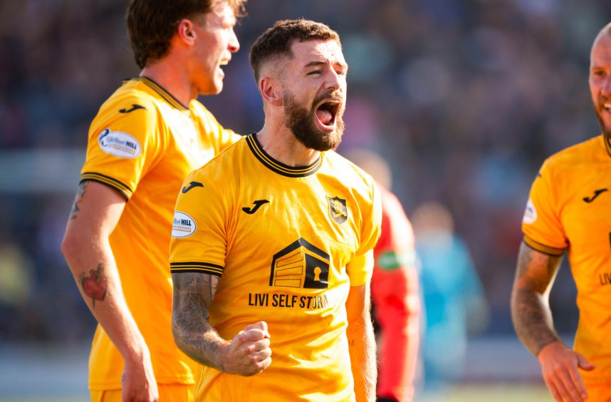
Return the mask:
M348 350L357 402L375 401L375 338L369 284L350 287L346 300Z

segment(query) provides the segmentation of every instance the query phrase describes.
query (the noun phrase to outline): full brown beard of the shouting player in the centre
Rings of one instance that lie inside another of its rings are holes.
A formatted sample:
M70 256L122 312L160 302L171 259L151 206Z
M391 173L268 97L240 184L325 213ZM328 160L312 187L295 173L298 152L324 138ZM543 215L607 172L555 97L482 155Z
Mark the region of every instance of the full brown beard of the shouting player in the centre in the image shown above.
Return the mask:
M338 148L338 145L342 142L342 135L344 133L342 110L338 110L338 113L335 115L335 130L332 132L326 133L325 131L321 131L314 124L314 119L317 118L315 115L315 105L328 96L328 94L318 96L314 100L310 110L308 110L298 105L292 93L288 91L284 93L283 103L286 127L291 130L295 138L297 138L305 148L324 152Z

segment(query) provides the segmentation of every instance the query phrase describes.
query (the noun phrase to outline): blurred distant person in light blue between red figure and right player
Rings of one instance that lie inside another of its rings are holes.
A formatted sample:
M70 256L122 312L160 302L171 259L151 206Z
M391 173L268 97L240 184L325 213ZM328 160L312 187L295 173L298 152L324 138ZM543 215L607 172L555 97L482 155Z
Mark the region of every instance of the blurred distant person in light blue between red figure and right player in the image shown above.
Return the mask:
M424 301L424 387L443 391L464 373L467 335L489 317L479 276L446 207L427 202L412 214Z

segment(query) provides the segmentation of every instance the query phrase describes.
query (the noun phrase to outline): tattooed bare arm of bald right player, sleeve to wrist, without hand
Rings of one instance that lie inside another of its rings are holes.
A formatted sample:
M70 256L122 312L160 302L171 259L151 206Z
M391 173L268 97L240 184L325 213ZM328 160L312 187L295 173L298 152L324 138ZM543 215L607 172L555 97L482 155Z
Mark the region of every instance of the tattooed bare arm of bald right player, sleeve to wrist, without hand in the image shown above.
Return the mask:
M562 257L554 257L522 244L511 294L513 326L535 355L560 338L553 327L548 294Z

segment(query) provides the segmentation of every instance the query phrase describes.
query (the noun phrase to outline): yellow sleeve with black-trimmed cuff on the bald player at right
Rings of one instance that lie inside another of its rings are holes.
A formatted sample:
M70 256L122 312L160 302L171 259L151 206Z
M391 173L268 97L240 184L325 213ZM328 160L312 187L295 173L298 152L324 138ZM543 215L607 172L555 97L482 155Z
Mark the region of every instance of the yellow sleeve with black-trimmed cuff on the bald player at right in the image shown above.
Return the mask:
M524 242L545 254L562 255L568 239L560 221L555 175L550 163L543 163L528 197L522 220Z

